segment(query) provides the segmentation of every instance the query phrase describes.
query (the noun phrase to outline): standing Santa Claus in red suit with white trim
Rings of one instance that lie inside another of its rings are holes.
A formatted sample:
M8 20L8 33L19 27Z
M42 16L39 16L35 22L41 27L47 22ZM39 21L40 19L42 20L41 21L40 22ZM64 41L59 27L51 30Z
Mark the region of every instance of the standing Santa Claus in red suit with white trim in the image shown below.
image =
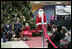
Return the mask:
M38 32L42 32L42 23L47 26L47 21L46 21L46 17L45 17L45 13L43 11L43 9L39 9L38 13L37 13L37 20L36 20L36 26L38 26L37 30Z

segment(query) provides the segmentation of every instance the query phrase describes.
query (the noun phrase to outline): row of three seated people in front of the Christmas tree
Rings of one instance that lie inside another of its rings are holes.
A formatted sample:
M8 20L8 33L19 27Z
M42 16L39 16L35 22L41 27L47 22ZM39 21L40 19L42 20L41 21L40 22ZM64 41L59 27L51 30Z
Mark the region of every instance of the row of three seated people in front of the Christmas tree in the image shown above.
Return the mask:
M32 37L32 32L36 32L36 30L31 31L29 23L25 22L24 25L21 23L20 18L17 18L14 24L11 24L9 20L4 24L4 30L2 30L1 35L5 43L6 41L14 40L14 38L17 38L17 40L27 40L28 36Z

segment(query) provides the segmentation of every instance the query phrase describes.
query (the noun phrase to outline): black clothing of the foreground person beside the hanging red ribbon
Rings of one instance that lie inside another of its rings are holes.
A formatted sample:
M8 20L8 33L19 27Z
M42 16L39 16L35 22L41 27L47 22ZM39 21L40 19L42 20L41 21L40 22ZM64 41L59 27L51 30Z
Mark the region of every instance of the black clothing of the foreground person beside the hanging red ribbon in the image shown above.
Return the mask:
M52 38L51 38L51 41L56 45L56 46L59 46L60 44L60 40L62 39L62 38L64 38L65 36L62 34L62 33L60 33L60 32L57 32L57 33L55 33L53 36L52 36ZM48 42L48 47L49 48L54 48L53 47L53 45L50 43L50 42Z

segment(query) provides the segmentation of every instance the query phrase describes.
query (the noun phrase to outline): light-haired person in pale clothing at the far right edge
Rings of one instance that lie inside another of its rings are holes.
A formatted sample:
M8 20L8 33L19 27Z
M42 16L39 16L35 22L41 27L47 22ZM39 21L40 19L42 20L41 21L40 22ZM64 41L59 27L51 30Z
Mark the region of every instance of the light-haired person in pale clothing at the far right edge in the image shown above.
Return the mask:
M66 44L65 45L68 45L67 47L71 47L70 46L70 43L71 43L71 32L69 32L67 30L67 28L65 26L62 27L62 30L61 30L62 33L65 33L65 37L62 39L62 40L65 40ZM62 43L63 44L63 43ZM63 45L64 45L63 44ZM65 46L64 46L65 47Z

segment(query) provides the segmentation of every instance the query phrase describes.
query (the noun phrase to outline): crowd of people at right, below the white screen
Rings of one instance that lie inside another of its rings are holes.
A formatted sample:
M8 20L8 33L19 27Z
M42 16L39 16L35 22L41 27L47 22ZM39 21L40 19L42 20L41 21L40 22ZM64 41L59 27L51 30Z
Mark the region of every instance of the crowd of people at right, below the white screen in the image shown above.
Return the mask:
M48 24L48 31L53 33L52 42L58 47L71 47L71 21L70 17L60 16L56 20L51 20ZM47 40L48 41L48 40ZM61 43L64 42L64 43ZM48 41L48 48L53 48L53 45Z

